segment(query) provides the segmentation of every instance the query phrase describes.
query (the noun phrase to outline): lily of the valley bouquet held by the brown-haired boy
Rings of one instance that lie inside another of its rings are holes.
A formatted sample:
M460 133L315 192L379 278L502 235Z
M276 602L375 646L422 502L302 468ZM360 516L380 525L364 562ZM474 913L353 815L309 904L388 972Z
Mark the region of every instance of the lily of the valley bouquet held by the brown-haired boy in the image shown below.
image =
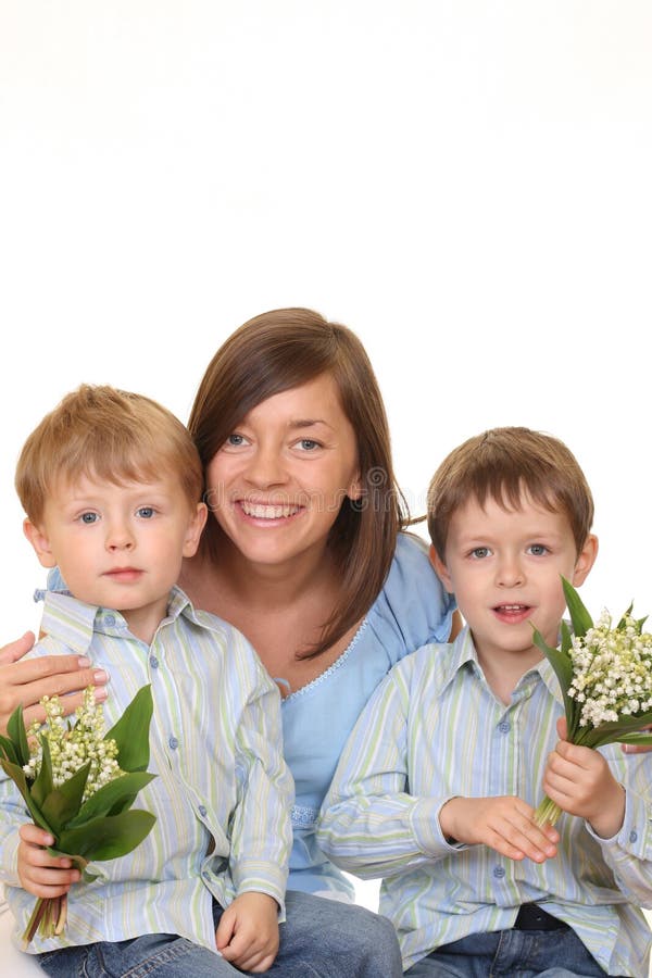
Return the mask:
M615 627L602 613L597 624L575 588L562 578L572 628L561 624L561 647L551 649L535 629L534 641L550 661L562 687L570 743L599 748L607 743L650 744L637 732L652 724L652 635L630 604ZM548 797L535 812L538 825L552 825L561 808Z

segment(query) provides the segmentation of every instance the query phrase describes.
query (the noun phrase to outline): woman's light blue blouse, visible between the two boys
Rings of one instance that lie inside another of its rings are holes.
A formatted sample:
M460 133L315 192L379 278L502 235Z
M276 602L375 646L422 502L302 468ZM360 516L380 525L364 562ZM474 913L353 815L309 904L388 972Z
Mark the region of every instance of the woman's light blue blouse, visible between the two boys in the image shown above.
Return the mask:
M400 534L389 575L349 648L321 676L281 703L286 762L296 786L288 888L353 887L317 845L315 824L337 762L363 706L399 660L448 641L454 600L435 574L426 544Z

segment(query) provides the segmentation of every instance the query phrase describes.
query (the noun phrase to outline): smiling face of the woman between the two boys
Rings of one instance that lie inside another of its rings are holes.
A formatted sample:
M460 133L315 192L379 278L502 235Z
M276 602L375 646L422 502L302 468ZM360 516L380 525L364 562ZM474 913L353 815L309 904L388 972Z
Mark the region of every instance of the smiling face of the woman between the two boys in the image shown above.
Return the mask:
M206 484L209 509L247 560L321 555L344 497L361 494L355 435L333 377L253 408L209 464Z

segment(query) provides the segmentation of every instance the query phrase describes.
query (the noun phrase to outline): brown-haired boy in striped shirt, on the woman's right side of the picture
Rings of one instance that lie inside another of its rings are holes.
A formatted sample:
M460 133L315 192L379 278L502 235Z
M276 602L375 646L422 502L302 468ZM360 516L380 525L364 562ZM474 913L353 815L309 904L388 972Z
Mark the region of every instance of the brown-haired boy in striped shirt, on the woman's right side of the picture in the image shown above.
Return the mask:
M466 626L378 688L318 830L342 868L384 878L410 976L648 975L649 762L559 739L561 690L532 642L534 625L557 644L592 518L573 454L527 428L471 438L430 484L431 560ZM543 792L556 828L535 823Z

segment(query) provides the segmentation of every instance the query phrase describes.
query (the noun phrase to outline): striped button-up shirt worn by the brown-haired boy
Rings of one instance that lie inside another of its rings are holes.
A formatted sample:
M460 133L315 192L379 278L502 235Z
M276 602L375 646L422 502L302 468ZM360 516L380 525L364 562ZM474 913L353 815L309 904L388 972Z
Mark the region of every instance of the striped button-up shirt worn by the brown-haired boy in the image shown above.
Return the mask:
M548 661L509 705L492 693L468 629L402 660L361 715L322 808L317 838L342 868L384 877L380 912L409 967L440 944L513 926L537 901L573 927L610 975L648 974L652 906L650 755L601 749L626 788L625 819L600 839L563 814L555 858L514 862L486 845L451 845L439 826L454 795L519 795L536 806L557 741L561 692Z

